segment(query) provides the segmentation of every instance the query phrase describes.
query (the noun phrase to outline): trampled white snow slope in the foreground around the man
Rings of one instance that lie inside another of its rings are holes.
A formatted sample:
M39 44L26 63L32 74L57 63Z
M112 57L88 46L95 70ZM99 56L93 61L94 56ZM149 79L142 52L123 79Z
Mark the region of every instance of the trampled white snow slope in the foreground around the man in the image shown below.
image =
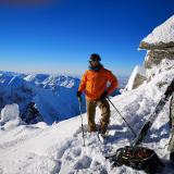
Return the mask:
M169 70L169 67L171 69ZM137 71L139 70L138 66ZM161 70L160 73L159 70ZM169 60L153 67L152 72L148 71L148 74L156 73L151 77L151 82L145 82L137 89L125 91L111 99L136 133L141 128L174 76L173 62L169 62ZM167 84L158 87L159 82L167 82ZM82 115L85 129L85 147L83 147L80 115L52 125L44 122L26 125L17 117L18 114L14 105L5 107L7 112L1 113L0 174L145 173L125 165L114 167L113 162L104 158L104 156L115 153L119 148L130 145L130 141L134 140L134 134L127 128L112 105L107 133L111 136L107 145L102 145L95 133L88 133L87 114ZM10 116L8 115L8 109L10 110ZM12 111L15 111L14 117ZM165 164L162 174L173 174L173 167L169 160L170 152L167 151L171 135L169 112L170 101L165 104L140 145L157 152ZM9 119L12 120L9 121ZM101 111L97 108L96 123L99 123L100 119Z

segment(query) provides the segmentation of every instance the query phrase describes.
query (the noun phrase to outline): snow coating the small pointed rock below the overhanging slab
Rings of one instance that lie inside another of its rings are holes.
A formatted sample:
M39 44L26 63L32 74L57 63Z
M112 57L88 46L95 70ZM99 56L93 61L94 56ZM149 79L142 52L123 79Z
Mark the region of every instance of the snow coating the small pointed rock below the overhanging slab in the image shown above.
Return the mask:
M135 77L136 75L139 74L144 77L146 77L146 69L139 66L139 65L136 65L136 67L134 69L129 79L128 79L128 84L127 84L127 90L132 90L133 89L133 85L134 85L134 80L135 80Z

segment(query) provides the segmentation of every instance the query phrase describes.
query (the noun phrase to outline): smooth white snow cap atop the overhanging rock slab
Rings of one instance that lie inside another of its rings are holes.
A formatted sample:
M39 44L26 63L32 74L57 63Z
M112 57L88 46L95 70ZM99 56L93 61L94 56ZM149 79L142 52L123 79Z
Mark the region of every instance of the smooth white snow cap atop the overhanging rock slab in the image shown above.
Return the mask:
M142 41L148 44L174 41L174 15L160 26L156 27Z

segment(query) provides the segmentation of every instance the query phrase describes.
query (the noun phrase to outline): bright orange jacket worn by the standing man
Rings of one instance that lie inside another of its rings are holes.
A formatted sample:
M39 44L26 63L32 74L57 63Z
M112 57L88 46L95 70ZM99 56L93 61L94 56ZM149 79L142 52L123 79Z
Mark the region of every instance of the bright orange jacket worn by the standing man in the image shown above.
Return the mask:
M86 99L97 100L105 91L108 80L111 83L107 89L110 95L119 85L119 80L109 70L103 66L99 72L88 70L85 72L78 90L83 94L86 89Z

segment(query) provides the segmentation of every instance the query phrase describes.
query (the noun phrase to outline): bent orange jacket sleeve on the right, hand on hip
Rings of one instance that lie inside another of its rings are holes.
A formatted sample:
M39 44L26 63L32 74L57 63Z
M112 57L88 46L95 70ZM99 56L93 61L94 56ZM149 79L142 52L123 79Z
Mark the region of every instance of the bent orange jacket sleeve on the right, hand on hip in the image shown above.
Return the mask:
M108 80L111 83L111 85L107 89L108 95L110 95L112 91L116 89L119 80L110 71L108 72Z

